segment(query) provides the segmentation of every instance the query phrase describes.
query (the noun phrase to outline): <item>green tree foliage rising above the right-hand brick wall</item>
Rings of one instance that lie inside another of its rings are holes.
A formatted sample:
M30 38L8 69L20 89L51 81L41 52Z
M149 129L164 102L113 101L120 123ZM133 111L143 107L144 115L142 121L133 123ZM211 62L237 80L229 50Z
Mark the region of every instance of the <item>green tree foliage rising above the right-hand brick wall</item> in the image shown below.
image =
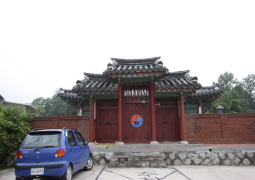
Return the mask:
M255 112L255 75L248 75L243 81L238 81L232 73L221 74L217 82L213 82L224 89L224 95L206 106L208 113L217 113L218 105L224 107L225 113Z

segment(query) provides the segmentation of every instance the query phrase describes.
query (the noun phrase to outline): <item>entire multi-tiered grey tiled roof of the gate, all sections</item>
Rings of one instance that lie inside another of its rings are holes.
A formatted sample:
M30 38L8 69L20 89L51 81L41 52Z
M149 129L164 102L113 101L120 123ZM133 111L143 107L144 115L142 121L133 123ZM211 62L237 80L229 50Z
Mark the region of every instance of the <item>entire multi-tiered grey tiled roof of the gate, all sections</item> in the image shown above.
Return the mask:
M223 90L215 87L202 87L197 82L197 77L191 77L189 70L168 72L163 66L160 57L147 59L117 59L111 58L112 64L108 64L103 74L84 73L82 80L76 81L72 90L64 90L58 94L63 99L80 101L81 95L117 95L118 83L111 80L111 77L122 77L125 73L129 76L140 77L140 75L157 76L154 87L157 92L193 92L191 98L205 96L219 96ZM145 72L143 74L143 72ZM153 72L153 73L150 73ZM155 73L154 73L155 72ZM133 73L133 74L131 74ZM139 75L139 76L138 76Z

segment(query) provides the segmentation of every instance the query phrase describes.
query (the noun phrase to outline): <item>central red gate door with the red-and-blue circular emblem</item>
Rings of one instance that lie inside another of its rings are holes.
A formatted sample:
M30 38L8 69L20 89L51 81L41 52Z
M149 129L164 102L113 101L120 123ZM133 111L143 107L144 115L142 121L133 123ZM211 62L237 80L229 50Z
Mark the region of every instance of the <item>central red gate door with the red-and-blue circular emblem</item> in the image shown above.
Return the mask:
M124 142L145 143L151 141L150 106L148 103L124 105Z

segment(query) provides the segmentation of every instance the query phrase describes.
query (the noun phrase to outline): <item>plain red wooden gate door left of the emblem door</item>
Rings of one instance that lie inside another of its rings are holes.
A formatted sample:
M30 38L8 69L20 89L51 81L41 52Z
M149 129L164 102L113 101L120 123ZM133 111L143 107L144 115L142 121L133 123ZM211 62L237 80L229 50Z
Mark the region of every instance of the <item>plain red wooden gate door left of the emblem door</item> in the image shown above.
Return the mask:
M96 141L100 143L115 143L117 141L117 122L117 109L99 109Z

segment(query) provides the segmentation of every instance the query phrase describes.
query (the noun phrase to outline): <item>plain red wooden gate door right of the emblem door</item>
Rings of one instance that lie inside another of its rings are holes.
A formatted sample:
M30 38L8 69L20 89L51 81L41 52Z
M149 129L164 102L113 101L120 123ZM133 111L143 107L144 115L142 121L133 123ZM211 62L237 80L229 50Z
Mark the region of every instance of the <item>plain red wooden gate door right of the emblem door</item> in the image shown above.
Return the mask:
M157 141L179 141L177 108L156 108Z

